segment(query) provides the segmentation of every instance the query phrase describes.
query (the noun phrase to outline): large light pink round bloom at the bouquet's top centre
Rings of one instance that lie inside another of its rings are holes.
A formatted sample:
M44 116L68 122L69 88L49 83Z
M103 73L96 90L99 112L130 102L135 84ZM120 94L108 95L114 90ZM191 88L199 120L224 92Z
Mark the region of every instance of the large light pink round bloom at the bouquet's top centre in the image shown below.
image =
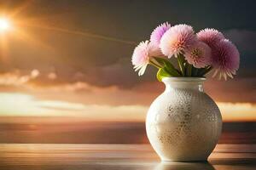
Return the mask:
M195 43L196 37L192 26L172 26L160 40L160 49L163 54L171 58Z

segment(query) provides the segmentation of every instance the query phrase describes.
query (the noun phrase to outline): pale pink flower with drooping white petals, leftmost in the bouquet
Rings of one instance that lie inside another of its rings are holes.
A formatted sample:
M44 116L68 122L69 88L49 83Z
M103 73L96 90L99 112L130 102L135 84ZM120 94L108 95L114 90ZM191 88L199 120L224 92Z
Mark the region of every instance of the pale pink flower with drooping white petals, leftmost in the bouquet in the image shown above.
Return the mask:
M155 47L151 42L140 42L134 49L131 62L134 65L135 71L138 71L138 75L142 76L146 71L149 60L153 56L162 55L160 48Z

